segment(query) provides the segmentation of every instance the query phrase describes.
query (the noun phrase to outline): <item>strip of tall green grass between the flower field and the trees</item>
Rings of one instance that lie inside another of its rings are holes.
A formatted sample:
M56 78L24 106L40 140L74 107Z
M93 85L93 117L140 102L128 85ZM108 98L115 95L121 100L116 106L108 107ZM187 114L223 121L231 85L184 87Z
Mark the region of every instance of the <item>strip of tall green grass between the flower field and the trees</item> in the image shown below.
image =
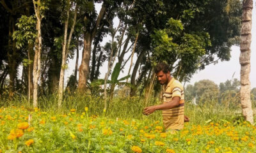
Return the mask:
M72 108L75 108L77 112L84 112L84 107L88 107L91 115L105 115L113 119L162 120L161 111L156 111L148 116L142 114L145 107L145 99L140 97L116 97L109 102L109 109L106 113L103 111L104 99L102 96L66 94L61 108L57 107L57 99L56 94L41 96L38 101L38 107L44 112L51 113L68 113ZM255 101L252 102L254 103ZM149 100L149 105L159 103L161 102L154 98ZM24 106L33 110L33 105L28 103L28 98L23 95L14 96L13 99L0 99L0 106ZM202 105L193 105L191 101L186 101L185 115L189 117L190 122L193 124L204 124L209 120L214 122L220 122L221 120L234 122L241 117L241 107L237 104L227 107L227 105L218 103L215 99L206 99Z

